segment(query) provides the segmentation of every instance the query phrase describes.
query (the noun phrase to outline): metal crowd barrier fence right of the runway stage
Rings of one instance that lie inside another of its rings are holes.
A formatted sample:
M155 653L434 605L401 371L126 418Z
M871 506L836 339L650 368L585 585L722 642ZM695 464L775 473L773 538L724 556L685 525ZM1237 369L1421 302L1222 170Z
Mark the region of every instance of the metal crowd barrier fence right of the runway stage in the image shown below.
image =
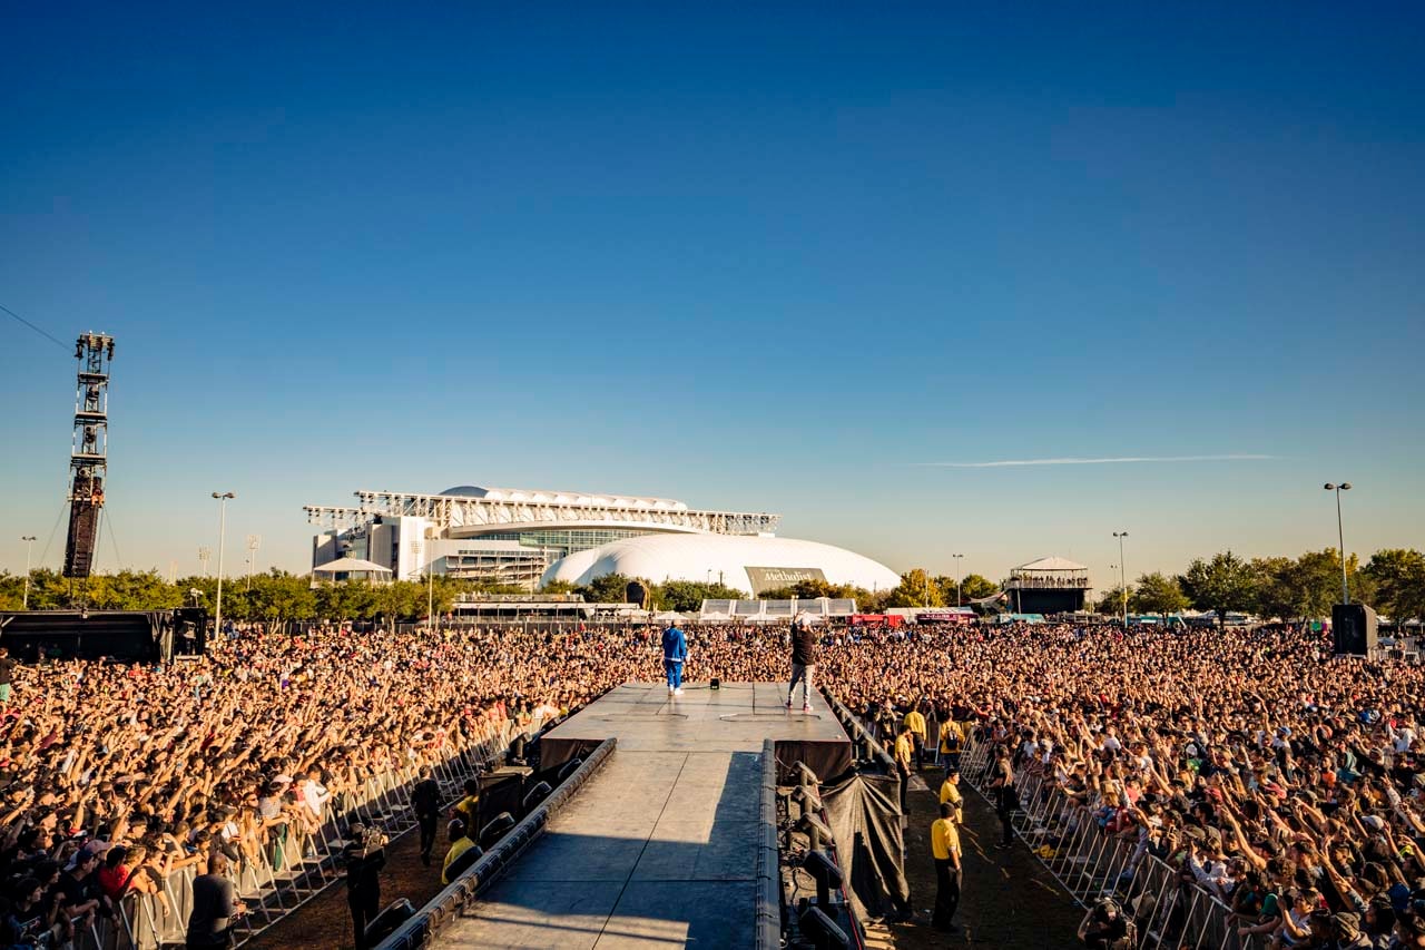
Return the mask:
M970 737L960 777L980 795L989 780L995 743ZM1020 810L1015 833L1082 906L1102 897L1123 904L1134 920L1140 950L1265 950L1265 936L1237 934L1231 909L1178 870L1150 854L1137 836L1124 839L1099 826L1093 812L1043 775L1016 782Z

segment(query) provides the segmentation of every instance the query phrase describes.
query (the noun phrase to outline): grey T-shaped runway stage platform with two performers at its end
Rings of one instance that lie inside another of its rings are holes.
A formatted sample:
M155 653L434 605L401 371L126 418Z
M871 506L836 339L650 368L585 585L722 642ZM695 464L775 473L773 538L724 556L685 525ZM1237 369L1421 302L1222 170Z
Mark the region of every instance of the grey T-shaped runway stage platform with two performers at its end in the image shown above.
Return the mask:
M764 742L784 763L811 752L851 765L825 699L804 715L785 696L779 683L687 685L680 698L628 683L546 733L544 765L617 746L432 946L752 947Z

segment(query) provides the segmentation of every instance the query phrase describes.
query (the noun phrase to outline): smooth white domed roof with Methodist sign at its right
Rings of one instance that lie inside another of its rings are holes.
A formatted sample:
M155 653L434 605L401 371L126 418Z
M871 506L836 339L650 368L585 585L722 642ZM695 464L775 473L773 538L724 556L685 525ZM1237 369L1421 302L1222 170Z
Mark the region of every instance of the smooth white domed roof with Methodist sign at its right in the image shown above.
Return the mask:
M901 583L891 568L844 548L794 538L750 535L641 535L579 551L550 565L540 583L589 583L606 573L664 581L717 581L754 588L751 569L819 571L829 583L888 591Z

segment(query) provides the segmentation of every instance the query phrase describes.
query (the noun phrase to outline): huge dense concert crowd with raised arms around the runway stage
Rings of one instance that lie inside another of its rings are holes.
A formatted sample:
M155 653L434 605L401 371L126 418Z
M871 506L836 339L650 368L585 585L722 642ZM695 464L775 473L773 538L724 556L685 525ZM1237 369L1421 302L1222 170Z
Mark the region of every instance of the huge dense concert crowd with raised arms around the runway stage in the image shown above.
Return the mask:
M787 636L694 628L684 679L785 682ZM999 740L1016 772L1211 889L1243 933L1425 946L1421 666L1331 659L1288 629L819 639L818 686L869 722L899 732L915 710L932 742L960 723ZM162 668L21 665L0 713L0 946L63 940L214 854L292 853L372 772L663 678L660 632L638 628L254 629Z

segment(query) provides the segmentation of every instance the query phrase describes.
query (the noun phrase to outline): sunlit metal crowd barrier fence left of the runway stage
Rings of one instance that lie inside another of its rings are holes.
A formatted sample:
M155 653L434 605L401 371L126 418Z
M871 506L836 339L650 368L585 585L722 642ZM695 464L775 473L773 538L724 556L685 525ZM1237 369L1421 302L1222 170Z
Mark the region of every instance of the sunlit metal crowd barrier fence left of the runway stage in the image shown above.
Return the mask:
M483 739L465 747L452 747L445 757L429 765L435 770L442 796L449 800L463 793L466 779L493 765L520 732L537 732L542 722L516 725L492 723ZM415 827L410 792L419 780L420 763L369 775L358 789L328 800L315 832L296 822L282 830L268 829L262 842L235 842L238 859L229 862L228 877L248 910L234 920L234 936L242 944L292 913L326 887L341 880L342 829L348 820L380 827L396 837ZM88 924L76 920L76 950L157 950L182 943L192 910L192 882L207 869L192 864L175 870L160 882L158 894L130 893L115 906L113 917L94 917Z

